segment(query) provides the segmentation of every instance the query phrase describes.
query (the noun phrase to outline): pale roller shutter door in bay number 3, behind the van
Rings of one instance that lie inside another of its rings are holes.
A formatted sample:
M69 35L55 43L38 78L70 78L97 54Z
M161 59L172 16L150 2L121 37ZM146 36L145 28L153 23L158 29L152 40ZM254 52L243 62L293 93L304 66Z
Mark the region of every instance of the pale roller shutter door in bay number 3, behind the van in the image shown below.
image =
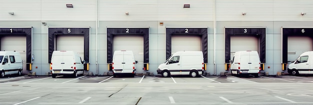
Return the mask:
M255 36L231 36L230 37L230 59L233 54L241 50L258 51L258 38Z

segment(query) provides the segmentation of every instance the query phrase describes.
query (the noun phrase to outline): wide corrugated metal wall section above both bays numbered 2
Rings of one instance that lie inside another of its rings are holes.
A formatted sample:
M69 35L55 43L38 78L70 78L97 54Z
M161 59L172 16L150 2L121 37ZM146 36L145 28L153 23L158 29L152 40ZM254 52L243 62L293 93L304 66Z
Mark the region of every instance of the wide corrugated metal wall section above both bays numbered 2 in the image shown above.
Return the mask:
M105 0L99 3L99 20L213 20L212 8L207 0Z

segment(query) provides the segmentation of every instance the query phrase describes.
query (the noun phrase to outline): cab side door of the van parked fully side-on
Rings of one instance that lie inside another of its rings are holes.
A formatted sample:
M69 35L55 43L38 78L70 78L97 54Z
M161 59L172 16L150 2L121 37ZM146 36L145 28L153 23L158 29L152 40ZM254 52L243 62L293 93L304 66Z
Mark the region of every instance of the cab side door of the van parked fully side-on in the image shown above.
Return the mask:
M180 56L173 56L170 58L167 62L168 69L170 71L170 74L180 74L180 64L181 62L179 61Z

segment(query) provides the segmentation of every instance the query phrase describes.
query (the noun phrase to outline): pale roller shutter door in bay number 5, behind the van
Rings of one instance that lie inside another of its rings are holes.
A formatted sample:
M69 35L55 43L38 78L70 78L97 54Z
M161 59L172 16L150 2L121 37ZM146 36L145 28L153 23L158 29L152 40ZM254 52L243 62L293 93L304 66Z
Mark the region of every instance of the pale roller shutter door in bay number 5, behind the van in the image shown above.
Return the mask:
M76 51L83 60L83 35L58 35L55 43L56 50Z

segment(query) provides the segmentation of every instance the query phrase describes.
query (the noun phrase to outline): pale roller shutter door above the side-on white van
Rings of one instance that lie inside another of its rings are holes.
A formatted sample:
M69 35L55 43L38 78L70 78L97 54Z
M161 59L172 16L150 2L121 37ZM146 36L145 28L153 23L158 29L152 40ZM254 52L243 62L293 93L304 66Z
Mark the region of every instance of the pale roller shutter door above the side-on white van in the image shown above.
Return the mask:
M177 51L201 51L201 37L196 35L172 35L171 54Z

